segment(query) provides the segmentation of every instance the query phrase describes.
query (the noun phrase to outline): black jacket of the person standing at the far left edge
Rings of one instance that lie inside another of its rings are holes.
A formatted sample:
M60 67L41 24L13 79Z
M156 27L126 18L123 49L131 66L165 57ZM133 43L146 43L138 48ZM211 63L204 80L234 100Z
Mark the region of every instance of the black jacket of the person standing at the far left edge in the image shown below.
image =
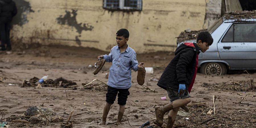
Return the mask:
M15 2L12 0L0 0L0 4L0 22L11 22L13 16L17 14Z

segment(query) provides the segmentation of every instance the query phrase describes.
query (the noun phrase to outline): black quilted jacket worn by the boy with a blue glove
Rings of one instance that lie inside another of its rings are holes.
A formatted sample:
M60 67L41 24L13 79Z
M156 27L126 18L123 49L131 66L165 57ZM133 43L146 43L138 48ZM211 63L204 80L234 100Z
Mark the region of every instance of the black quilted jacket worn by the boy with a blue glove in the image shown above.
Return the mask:
M164 73L157 83L161 88L165 90L170 88L178 91L179 84L185 84L186 90L188 90L189 84L195 74L197 54L200 53L200 48L196 43L194 43L195 47L186 44L181 44L176 49L175 57L164 69Z

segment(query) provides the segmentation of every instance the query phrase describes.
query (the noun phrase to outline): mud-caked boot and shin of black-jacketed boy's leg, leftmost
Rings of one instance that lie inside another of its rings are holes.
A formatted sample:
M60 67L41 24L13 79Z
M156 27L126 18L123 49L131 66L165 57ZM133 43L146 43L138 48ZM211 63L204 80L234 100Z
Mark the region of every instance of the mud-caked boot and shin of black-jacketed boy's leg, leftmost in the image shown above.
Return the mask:
M172 102L173 103L173 102ZM172 103L167 104L164 107L159 107L156 106L155 108L155 112L156 112L156 120L154 121L154 124L158 125L158 126L162 126L163 125L163 120L164 120L164 114L170 110L173 109Z

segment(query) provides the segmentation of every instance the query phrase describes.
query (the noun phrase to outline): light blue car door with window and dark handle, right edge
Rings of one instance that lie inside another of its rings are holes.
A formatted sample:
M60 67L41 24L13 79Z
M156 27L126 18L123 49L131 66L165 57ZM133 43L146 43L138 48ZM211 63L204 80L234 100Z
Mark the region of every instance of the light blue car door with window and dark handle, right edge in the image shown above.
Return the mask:
M256 22L233 23L217 46L230 69L256 69Z

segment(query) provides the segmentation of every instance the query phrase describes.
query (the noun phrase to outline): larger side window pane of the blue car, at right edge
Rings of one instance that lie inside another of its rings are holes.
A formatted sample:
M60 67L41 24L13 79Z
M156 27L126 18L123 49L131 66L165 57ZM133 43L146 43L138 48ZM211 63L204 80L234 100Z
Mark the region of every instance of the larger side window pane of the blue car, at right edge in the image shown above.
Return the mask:
M234 42L256 42L256 23L234 24Z

